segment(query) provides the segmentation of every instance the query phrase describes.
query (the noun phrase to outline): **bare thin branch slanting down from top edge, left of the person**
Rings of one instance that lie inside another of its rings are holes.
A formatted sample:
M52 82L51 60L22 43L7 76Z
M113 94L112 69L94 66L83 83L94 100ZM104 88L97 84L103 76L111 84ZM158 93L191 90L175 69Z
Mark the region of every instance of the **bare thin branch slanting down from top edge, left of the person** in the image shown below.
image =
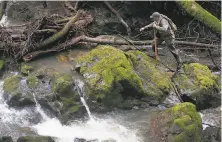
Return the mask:
M121 17L121 15L119 14L118 11L116 11L108 1L104 1L105 5L116 15L116 17L119 19L119 21L123 24L123 26L126 28L127 30L127 34L128 36L131 35L131 29L128 26L128 24L123 20L123 18Z

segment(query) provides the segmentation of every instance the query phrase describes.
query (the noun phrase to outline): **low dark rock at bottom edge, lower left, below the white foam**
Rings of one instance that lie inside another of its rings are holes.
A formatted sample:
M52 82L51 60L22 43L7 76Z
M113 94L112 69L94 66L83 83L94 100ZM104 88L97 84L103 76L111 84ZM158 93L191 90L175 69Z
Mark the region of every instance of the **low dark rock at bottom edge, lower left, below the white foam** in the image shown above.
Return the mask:
M19 137L17 142L55 142L51 137L47 136L23 136Z

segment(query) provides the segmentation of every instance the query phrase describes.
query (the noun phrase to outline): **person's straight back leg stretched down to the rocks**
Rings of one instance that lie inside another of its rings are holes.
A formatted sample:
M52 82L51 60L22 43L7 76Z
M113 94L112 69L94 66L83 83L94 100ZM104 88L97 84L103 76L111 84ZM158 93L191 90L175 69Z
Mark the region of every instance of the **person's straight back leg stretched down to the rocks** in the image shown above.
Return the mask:
M176 59L176 62L177 62L177 70L179 70L182 66L182 61L179 57L179 51L178 49L175 48L175 44L174 44L174 41L175 39L174 38L166 38L164 39L165 42L166 42L166 45L167 47L169 48L170 52L173 54L174 58Z

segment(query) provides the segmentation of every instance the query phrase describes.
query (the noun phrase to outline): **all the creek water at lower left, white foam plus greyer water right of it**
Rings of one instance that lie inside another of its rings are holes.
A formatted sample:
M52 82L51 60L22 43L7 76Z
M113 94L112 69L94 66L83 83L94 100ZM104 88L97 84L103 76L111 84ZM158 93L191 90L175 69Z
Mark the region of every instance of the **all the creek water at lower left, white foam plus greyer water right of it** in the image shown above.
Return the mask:
M24 87L25 81L23 79L20 83L23 89L26 88ZM27 135L28 129L35 135L51 136L57 142L73 142L76 138L98 142L105 140L116 142L144 141L142 135L139 134L139 130L142 130L141 126L144 124L146 126L144 126L143 130L148 130L148 109L129 111L127 113L119 111L94 115L86 104L84 94L82 94L84 84L80 81L78 90L81 93L81 101L88 112L89 119L87 121L75 121L69 125L62 125L56 117L51 117L45 113L36 100L35 93L32 94L36 103L35 107L10 108L4 100L3 83L3 81L0 82L0 136L10 135L16 139L19 136ZM134 120L135 117L142 119ZM37 123L34 122L36 118L40 120ZM24 129L26 132L23 131Z

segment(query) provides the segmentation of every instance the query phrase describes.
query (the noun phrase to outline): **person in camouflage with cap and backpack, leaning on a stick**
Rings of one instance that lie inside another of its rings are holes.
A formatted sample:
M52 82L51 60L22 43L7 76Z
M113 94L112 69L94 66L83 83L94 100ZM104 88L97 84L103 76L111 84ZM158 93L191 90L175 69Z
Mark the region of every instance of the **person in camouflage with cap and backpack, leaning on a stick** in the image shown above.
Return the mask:
M154 12L150 18L153 19L153 23L140 28L140 32L147 28L153 28L156 30L156 43L161 44L165 41L165 44L169 48L170 52L173 54L174 58L177 62L177 69L178 72L181 69L181 59L178 55L178 49L175 48L175 34L174 31L176 30L176 25L169 19L167 16L160 14L159 12ZM152 44L153 51L155 51L155 41ZM175 74L176 74L175 72Z

